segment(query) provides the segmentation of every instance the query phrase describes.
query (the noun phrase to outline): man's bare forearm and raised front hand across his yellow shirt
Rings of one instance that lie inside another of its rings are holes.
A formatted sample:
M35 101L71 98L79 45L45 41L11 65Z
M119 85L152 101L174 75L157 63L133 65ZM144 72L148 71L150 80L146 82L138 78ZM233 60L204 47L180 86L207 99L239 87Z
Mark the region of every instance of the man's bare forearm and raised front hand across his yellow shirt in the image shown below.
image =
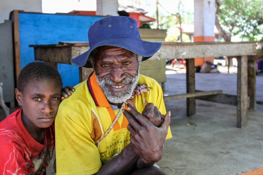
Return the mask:
M124 115L126 114L128 116L128 121L131 121L132 123L128 125L128 129L130 128L129 131L132 131L130 135L131 143L127 145L120 154L105 163L100 168L98 173L96 173L96 175L129 174L132 172L136 172L135 174L141 174L142 172L146 173L152 171L160 171L160 173L164 173L162 170L158 170L154 167L149 168L149 166L152 166L161 159L163 143L167 135L168 126L170 124L170 112L164 116L164 122L161 124L160 128L158 128L154 126L146 117L140 114L136 109L132 107L129 107L129 109L130 113L127 110L124 110ZM131 113L136 117L133 117ZM135 118L140 118L138 119L140 123L135 121ZM139 125L146 129L140 128ZM158 125L159 123L157 122L157 126ZM137 131L133 131L133 127L139 130L144 130L139 134L139 138L136 136ZM137 139L133 139L132 135Z

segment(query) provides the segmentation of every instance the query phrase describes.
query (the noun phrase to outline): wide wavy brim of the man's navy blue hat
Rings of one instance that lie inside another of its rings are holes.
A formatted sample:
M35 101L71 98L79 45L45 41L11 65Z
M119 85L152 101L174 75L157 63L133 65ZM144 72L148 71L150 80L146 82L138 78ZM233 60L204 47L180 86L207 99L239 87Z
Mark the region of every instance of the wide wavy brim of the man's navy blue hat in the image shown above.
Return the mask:
M76 58L71 59L70 61L78 67L92 68L92 65L88 61L88 57L96 47L100 47L100 46L122 47L124 49L134 52L135 54L143 56L142 61L145 61L149 59L151 56L153 56L161 48L162 43L144 41L144 40L135 40L128 37L111 38L95 44L88 51L77 56Z

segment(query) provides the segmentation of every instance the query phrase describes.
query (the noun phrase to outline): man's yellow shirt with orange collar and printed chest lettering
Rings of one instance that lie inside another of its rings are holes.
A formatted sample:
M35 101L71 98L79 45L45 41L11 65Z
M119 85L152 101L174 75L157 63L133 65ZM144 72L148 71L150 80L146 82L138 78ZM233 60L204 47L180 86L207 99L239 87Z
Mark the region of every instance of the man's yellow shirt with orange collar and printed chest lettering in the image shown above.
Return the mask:
M150 94L134 97L137 110L142 113L147 103L154 103L162 114L166 114L159 83L140 75L138 84L142 83L153 89ZM128 121L123 114L108 135L95 143L110 128L119 110L111 108L94 73L74 88L76 91L60 103L55 120L57 175L97 173L130 143ZM169 138L172 138L170 127L166 139Z

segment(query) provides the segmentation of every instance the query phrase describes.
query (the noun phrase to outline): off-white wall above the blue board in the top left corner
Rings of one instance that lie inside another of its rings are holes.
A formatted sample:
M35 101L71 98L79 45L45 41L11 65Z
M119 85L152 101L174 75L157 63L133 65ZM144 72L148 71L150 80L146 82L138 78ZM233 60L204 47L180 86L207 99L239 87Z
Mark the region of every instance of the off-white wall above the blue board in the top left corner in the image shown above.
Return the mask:
M42 12L42 0L0 0L0 23L9 20L13 10Z

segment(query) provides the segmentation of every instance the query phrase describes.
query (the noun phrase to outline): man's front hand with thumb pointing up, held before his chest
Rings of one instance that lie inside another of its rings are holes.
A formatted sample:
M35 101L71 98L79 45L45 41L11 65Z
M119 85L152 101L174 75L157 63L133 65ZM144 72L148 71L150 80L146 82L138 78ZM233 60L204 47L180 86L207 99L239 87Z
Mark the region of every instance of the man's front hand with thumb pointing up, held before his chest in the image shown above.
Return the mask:
M145 164L158 162L162 157L164 141L171 123L171 113L164 115L164 122L158 128L136 108L128 107L128 110L124 110L123 114L129 122L127 129L131 133L130 139L134 152ZM156 114L156 111L153 113Z

